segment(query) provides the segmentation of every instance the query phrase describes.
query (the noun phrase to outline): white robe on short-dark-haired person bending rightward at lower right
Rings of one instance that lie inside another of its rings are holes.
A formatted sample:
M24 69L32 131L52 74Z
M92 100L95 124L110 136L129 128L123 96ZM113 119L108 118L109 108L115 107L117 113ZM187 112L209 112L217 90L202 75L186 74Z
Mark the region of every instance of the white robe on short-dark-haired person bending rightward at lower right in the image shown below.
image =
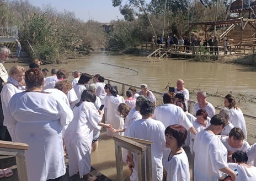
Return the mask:
M219 169L227 167L227 149L221 140L209 131L195 135L194 180L217 181Z

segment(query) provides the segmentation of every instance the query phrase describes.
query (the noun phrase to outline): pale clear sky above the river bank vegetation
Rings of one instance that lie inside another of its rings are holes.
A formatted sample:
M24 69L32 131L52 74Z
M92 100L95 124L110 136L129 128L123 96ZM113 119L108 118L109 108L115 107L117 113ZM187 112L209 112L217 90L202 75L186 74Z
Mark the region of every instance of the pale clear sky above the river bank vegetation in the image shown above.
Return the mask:
M124 0L125 2L126 0ZM77 18L87 21L90 19L99 21L101 23L109 23L110 20L123 19L124 16L120 14L119 8L112 6L111 0L29 0L29 2L36 7L44 7L51 5L59 12L64 9L74 12ZM150 2L150 0L147 0Z

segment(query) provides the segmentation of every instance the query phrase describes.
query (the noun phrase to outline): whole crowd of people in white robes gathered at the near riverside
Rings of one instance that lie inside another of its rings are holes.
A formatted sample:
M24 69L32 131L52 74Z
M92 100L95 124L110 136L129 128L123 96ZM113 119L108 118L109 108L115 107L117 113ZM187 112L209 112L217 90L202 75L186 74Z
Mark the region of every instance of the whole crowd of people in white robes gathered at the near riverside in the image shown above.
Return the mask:
M0 58L2 53L0 47ZM246 122L233 95L224 98L225 108L216 115L206 92L199 91L191 114L189 91L182 79L157 105L146 84L138 92L130 87L125 99L115 86L104 83L102 75L92 78L76 71L73 76L71 84L65 69L53 68L51 76L44 78L39 68L25 71L16 65L8 78L1 77L3 125L12 141L30 146L25 151L29 181L65 180L65 150L70 177L78 174L95 180L89 177L90 153L97 150L102 127L108 136L153 142L152 180L160 181L165 175L167 181L189 181L189 164L194 164L195 180L218 180L223 174L238 181L256 179L256 144L247 142ZM195 155L194 163L188 161L189 150ZM123 155L136 180L137 155L129 150Z

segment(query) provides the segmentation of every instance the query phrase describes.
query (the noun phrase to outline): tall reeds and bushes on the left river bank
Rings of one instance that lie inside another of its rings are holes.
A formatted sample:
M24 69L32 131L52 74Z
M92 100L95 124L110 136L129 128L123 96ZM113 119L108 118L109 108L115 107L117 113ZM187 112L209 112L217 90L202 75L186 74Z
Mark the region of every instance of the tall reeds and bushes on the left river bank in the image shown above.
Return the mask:
M60 2L61 3L61 2ZM0 25L18 26L19 40L23 49L33 47L33 59L45 63L63 63L67 58L86 55L104 44L101 23L86 23L73 12L58 12L51 6L43 9L32 6L29 1L0 1Z

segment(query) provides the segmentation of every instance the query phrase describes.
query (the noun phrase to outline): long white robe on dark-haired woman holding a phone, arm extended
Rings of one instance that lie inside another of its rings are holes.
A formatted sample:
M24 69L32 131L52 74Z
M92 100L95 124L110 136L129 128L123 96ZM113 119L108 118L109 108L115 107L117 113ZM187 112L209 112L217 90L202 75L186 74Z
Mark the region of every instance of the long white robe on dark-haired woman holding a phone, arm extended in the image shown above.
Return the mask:
M70 176L79 171L80 177L90 172L90 152L93 130L102 120L92 102L82 102L73 108L74 118L65 132Z

